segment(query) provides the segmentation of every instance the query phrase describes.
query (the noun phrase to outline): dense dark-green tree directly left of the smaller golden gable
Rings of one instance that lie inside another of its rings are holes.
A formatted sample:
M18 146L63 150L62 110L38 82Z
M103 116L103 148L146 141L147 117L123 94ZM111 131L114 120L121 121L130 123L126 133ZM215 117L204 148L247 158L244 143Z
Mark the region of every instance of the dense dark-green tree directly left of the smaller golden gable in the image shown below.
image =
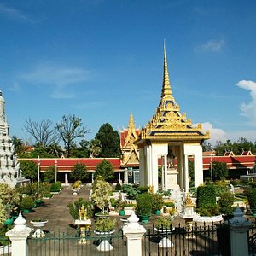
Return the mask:
M100 127L95 138L102 145L99 157L119 157L121 155L119 133L114 131L113 127L108 123Z

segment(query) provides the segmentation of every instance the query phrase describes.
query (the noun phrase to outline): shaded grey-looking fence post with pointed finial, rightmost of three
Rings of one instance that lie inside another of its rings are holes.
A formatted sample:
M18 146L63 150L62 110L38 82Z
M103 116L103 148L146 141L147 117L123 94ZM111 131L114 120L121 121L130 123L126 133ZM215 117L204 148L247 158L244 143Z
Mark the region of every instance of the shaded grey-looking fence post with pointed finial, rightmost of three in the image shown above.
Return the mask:
M248 241L247 230L253 224L243 217L243 212L239 207L233 212L234 217L230 220L230 245L232 256L247 256L248 255Z

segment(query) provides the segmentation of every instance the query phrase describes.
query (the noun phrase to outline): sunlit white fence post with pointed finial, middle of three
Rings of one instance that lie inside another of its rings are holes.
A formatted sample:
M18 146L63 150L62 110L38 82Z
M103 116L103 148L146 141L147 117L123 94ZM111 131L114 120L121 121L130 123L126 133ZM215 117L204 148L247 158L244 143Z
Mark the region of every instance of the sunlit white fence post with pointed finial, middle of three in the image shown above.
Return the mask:
M127 237L127 256L142 256L142 239L146 229L138 224L135 212L131 212L128 218L128 224L123 227L123 233Z

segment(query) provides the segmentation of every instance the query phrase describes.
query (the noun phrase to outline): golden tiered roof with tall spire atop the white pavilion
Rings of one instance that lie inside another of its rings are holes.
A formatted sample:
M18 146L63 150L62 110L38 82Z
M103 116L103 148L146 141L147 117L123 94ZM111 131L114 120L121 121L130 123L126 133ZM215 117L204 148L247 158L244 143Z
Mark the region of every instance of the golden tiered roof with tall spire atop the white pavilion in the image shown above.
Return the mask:
M172 96L164 44L164 74L160 103L153 118L142 129L138 141L201 141L209 137L209 131L206 134L202 132L201 124L193 127L186 114L180 113L179 106Z

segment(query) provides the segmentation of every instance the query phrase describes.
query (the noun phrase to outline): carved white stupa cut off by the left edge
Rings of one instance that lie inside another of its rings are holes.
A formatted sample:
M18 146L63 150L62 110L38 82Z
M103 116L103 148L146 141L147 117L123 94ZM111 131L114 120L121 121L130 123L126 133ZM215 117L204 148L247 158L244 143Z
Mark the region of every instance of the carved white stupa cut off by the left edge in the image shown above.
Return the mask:
M28 179L21 177L20 164L16 160L14 145L9 137L5 101L0 90L0 183L6 183L13 188L28 182Z

